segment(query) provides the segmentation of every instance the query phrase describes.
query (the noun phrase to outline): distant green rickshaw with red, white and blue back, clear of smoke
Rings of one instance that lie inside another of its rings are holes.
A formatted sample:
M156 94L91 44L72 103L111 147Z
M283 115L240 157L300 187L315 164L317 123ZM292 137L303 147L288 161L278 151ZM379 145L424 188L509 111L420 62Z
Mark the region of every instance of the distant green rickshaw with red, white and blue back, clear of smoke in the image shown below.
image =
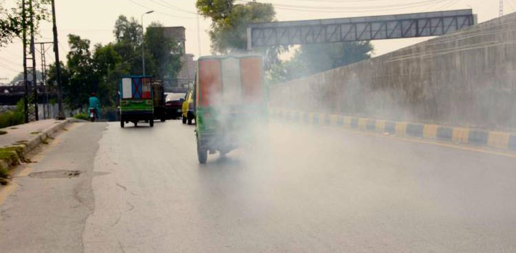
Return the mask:
M152 77L124 76L120 80L120 127L132 122L147 121L154 126L154 92Z

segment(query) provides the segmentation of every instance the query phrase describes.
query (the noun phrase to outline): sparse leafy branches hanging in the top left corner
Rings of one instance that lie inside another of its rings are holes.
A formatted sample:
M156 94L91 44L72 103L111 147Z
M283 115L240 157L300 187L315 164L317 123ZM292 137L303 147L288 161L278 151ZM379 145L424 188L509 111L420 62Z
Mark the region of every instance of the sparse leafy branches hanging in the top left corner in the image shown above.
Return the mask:
M34 16L34 31L37 33L39 22L48 20L50 14L48 11L50 0L32 0L32 10L29 8L28 1L25 1L25 8L27 9L25 21L26 29L30 27L30 12L33 12ZM0 47L7 45L12 42L12 38L21 38L23 32L23 12L22 12L22 1L17 1L17 8L12 8L8 11L3 7L3 2L0 3L0 13L3 16L0 17Z

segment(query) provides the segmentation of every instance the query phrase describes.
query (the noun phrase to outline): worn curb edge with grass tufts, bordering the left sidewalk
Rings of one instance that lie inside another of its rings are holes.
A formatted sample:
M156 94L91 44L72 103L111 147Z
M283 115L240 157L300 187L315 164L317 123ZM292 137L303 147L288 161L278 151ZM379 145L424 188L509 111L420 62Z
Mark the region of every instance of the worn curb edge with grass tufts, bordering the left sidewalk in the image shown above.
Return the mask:
M25 154L28 154L32 150L39 147L42 143L45 143L47 138L52 137L53 134L65 128L68 123L76 122L76 119L68 118L62 121L56 121L54 125L46 128L38 134L30 134L30 137L26 141L20 140L11 145L0 147L0 170L4 173L12 169L12 167L19 164L21 160L24 160Z

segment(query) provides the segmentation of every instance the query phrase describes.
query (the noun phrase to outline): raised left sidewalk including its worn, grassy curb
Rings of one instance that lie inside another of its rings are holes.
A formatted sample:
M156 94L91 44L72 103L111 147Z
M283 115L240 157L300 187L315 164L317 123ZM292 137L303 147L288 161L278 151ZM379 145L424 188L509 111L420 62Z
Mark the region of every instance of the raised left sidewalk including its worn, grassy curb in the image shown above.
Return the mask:
M0 135L0 170L6 173L23 160L25 154L44 143L47 138L76 119L45 119L9 128L1 128L7 134ZM1 177L1 175L0 175Z

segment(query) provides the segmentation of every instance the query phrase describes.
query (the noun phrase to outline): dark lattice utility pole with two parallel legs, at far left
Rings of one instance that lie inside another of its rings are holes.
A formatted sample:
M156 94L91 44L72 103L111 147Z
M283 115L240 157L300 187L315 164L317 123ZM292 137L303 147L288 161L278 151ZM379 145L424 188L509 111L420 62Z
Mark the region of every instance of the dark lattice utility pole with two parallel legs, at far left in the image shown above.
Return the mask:
M36 57L34 53L34 10L32 9L32 0L21 1L22 5L22 29L23 29L23 83L25 84L25 93L23 96L25 109L25 123L37 121L38 115L38 80L36 78ZM27 12L29 12L30 24L27 25ZM27 28L30 28L30 45L27 47ZM30 66L28 66L30 62ZM29 90L28 75L32 75L32 94ZM34 104L32 104L34 102Z

